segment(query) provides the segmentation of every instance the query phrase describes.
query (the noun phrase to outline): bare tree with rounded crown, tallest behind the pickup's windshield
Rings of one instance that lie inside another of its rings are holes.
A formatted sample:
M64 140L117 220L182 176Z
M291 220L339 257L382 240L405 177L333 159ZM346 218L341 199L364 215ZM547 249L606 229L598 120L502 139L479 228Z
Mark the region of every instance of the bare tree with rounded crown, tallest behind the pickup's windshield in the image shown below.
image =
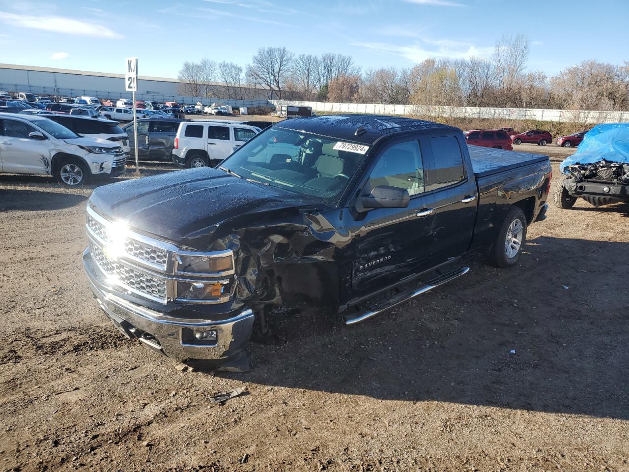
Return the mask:
M247 66L247 78L252 84L269 91L269 98L282 99L282 90L291 72L294 54L286 48L260 48Z

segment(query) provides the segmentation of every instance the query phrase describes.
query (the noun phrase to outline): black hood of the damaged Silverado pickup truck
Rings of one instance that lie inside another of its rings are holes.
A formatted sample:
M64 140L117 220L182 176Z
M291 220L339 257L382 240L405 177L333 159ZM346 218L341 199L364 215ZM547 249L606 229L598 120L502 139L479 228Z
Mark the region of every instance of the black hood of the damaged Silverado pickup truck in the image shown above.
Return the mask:
M315 202L203 167L99 187L89 205L141 233L204 250L218 230L228 233L282 211L296 214Z

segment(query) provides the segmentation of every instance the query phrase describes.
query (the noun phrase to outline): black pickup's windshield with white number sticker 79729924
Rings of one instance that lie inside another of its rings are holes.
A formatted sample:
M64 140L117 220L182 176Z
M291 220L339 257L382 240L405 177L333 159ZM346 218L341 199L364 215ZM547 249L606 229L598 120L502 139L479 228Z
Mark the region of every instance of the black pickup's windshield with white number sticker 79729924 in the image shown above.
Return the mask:
M347 188L367 149L333 138L271 128L251 138L220 167L259 183L335 199Z

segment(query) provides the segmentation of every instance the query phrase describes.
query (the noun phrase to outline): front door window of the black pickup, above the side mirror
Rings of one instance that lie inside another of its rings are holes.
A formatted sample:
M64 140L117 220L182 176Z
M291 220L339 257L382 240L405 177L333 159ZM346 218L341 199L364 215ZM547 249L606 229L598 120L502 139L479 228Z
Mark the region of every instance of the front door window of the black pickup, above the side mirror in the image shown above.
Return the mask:
M369 176L370 188L381 185L408 190L413 196L424 191L420 143L407 141L391 146L378 158Z

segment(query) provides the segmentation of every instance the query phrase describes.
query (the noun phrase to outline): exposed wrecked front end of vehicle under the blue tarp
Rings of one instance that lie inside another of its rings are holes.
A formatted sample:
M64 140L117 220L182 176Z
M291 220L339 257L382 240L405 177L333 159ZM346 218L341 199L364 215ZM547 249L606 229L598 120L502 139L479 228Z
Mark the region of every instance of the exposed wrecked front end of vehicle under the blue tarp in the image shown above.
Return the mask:
M594 164L571 164L563 169L564 187L573 197L593 206L629 200L629 164L600 160Z

